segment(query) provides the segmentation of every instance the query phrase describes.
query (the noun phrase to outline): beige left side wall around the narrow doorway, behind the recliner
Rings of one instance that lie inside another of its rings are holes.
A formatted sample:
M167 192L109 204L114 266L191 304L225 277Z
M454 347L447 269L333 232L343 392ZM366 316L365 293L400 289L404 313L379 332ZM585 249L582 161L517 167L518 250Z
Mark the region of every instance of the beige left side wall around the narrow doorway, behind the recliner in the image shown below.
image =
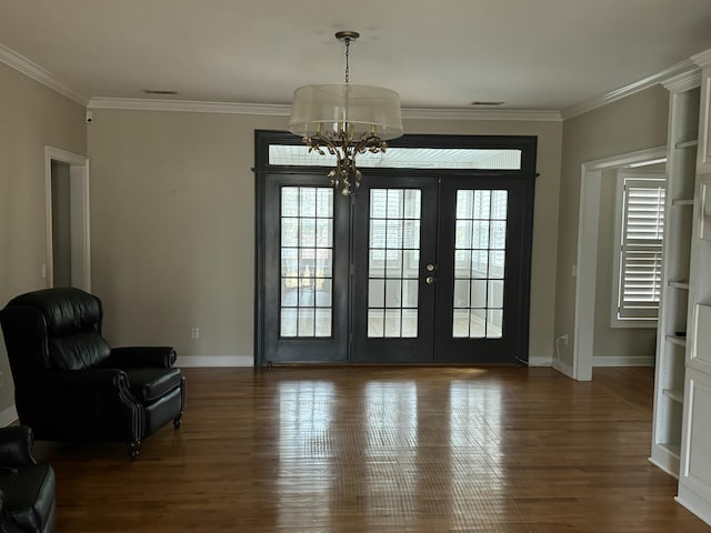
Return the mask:
M47 257L44 145L87 151L84 108L0 63L0 305L42 289ZM13 401L4 342L0 343L0 414Z

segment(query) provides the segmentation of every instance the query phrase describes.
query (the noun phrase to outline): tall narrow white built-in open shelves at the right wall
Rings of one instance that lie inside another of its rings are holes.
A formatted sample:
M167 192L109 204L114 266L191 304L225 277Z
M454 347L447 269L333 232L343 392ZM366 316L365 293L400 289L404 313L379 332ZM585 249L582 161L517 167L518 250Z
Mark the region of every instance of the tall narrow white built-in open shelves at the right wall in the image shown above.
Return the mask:
M670 92L667 149L663 281L657 334L654 418L650 461L679 476L690 265L695 198L700 79L698 73L664 84Z

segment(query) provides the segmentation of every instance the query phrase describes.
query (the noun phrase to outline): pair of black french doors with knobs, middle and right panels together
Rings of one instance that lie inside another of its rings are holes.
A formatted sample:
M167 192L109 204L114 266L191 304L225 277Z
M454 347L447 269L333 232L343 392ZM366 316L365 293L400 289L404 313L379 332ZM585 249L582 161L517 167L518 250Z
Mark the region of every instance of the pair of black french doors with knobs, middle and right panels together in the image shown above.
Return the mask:
M528 348L525 187L370 175L354 202L354 362L514 362Z

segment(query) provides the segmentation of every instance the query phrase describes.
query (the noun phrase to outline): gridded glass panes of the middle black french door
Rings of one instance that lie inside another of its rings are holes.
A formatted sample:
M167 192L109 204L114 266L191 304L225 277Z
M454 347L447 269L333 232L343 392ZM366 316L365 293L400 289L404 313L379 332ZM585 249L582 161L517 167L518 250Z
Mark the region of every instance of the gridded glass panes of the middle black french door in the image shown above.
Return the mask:
M368 336L417 338L421 191L371 189Z

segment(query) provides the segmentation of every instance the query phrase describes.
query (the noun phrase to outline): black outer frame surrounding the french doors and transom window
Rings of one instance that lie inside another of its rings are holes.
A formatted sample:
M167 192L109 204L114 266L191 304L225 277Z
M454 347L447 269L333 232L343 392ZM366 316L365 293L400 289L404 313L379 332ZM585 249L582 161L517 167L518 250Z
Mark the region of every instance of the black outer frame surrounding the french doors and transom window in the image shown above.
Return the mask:
M323 175L323 183L328 184L329 178L327 177L328 167L292 167L292 165L272 165L269 164L269 147L282 144L282 145L302 145L303 141L298 135L294 135L287 131L274 130L254 130L254 231L256 231L256 253L254 253L254 364L262 366L268 364L269 360L264 353L264 335L267 333L267 324L264 323L264 262L266 253L262 245L262 239L266 231L266 221L263 217L263 210L261 207L266 201L266 184L263 177L266 172L283 173L283 174L314 174L319 173ZM538 137L535 135L442 135L442 134L405 134L399 139L389 141L389 147L395 148L442 148L442 149L518 149L521 151L521 164L518 170L512 171L495 171L500 175L514 175L519 174L522 179L530 181L531 188L531 208L527 211L527 220L530 220L528 225L529 234L532 235L532 221L533 221L533 193L534 182L538 175L535 171L535 161L538 155ZM393 177L404 175L432 175L433 172L442 169L391 169L391 168L364 168L364 172L387 172ZM467 177L477 172L477 169L444 169L450 175ZM350 213L352 224L352 212ZM525 289L522 291L522 299L524 302L530 302L530 264L531 264L532 247L529 245L524 252L523 260L528 264L527 280L524 282ZM353 290L352 288L350 289ZM352 298L349 294L349 301L352 302ZM351 305L349 305L351 308ZM528 361L528 345L529 345L529 321L530 321L530 305L527 305L529 311L523 316L525 328L522 330L525 333L524 352L522 352L521 362ZM350 312L350 311L349 311ZM350 321L349 321L350 324ZM349 325L350 326L350 325ZM352 328L351 328L352 333ZM350 362L350 345L352 340L349 340L349 362Z

